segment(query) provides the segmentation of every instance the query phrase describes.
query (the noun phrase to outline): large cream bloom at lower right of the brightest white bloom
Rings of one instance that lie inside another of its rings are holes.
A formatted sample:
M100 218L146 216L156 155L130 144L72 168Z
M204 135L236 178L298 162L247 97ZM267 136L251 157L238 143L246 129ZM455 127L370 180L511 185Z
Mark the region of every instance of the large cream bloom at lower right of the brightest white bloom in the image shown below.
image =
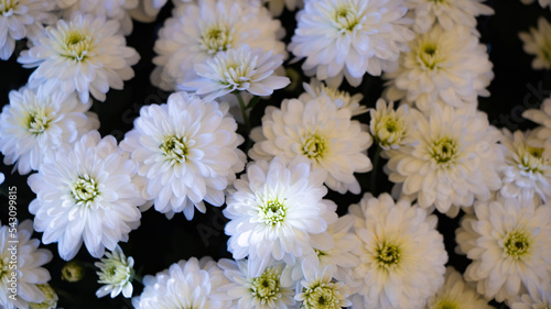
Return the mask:
M436 217L388 194L366 194L349 212L361 241L354 275L363 283L352 308L422 308L444 283L447 262Z

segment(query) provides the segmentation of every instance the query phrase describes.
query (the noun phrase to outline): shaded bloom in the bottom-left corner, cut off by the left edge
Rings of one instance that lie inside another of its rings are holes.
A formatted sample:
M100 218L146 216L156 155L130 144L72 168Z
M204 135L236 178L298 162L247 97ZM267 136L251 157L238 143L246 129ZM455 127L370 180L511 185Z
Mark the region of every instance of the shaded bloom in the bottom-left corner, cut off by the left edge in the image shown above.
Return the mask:
M31 220L0 223L0 307L4 309L29 308L29 302L45 300L39 285L51 279L42 266L52 260L52 253L39 249L40 241L31 239L32 233Z

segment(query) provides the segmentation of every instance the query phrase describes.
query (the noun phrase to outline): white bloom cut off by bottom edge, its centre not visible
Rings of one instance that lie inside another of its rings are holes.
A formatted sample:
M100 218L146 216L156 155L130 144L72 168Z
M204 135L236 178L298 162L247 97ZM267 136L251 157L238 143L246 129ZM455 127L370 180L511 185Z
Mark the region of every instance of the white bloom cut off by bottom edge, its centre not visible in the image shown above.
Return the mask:
M136 309L230 308L230 301L216 297L222 284L227 284L224 279L210 257L182 260L155 276L145 276L143 291L132 298L132 305Z

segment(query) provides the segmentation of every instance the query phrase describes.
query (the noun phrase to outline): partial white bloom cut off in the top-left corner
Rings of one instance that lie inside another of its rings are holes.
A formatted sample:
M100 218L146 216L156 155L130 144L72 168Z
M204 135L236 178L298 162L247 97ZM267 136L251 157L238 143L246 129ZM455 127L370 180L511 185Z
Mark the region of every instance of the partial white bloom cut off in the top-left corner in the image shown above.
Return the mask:
M13 54L15 41L40 37L43 24L55 20L54 0L2 0L0 1L0 59Z

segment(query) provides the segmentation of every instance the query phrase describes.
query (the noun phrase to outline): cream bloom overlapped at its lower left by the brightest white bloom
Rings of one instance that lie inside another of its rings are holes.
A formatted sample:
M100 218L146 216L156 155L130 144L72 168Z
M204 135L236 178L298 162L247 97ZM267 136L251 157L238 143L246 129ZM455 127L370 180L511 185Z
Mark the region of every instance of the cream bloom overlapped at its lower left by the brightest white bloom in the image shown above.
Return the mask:
M350 120L349 109L338 109L326 96L303 102L284 100L281 109L268 107L262 126L251 132L256 142L249 151L253 159L280 156L285 162L305 157L312 169L326 170L324 180L329 189L359 194L354 173L371 170L367 148L371 135L358 121Z

